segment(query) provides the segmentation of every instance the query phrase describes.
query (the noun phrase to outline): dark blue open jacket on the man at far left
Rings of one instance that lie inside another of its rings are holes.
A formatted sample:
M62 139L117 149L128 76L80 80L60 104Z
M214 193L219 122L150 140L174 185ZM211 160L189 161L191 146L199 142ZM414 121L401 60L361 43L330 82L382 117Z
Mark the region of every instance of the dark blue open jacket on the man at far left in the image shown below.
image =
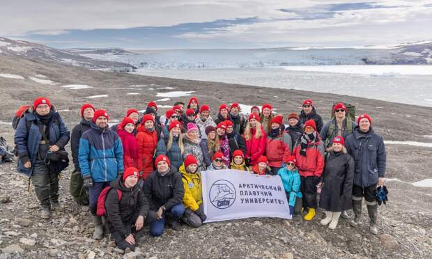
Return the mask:
M52 120L49 123L49 146L57 145L61 150L69 141L69 130L63 122L60 114L53 111ZM29 131L27 131L27 121L31 122ZM58 123L55 123L57 121ZM26 113L21 118L20 123L15 131L15 145L17 146L18 161L17 170L24 175L31 176L33 173L33 165L38 158L39 144L43 140L42 133L39 130L39 118L33 113ZM45 154L44 154L45 155ZM45 156L44 156L45 157ZM26 162L31 162L30 168L25 168Z

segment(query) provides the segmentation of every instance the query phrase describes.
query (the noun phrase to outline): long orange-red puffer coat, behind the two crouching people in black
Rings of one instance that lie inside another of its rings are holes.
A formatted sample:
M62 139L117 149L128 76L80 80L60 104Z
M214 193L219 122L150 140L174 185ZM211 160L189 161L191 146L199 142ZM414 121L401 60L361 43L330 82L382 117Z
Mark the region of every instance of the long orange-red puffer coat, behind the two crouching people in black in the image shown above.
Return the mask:
M157 147L157 133L148 131L144 127L139 128L137 133L138 144L138 169L143 171L143 179L146 179L151 172L155 170L153 167L153 155Z

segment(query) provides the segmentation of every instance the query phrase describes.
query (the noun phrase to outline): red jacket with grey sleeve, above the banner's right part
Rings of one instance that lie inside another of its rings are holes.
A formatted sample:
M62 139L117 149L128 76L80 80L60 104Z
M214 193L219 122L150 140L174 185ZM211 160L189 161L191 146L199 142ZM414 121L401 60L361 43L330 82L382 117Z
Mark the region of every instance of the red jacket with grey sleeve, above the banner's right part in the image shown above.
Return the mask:
M273 139L267 136L267 144L265 146L265 156L268 159L268 166L281 167L284 157L291 155L291 136L283 133Z

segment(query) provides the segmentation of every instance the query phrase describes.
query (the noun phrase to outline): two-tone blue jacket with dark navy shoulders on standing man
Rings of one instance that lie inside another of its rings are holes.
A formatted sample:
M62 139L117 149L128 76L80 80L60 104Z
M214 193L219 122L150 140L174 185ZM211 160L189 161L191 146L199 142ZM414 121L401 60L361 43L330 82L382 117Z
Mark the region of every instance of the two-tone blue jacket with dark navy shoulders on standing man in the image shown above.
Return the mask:
M110 182L123 173L123 146L118 135L106 127L91 124L79 139L78 162L84 177L94 182Z

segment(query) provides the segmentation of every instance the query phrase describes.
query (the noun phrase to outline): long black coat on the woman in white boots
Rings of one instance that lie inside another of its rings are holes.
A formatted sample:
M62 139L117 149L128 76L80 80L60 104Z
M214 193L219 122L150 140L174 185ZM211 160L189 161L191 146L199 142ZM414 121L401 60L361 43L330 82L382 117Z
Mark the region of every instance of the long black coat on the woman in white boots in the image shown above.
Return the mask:
M348 153L329 152L325 158L320 207L341 212L352 207L354 159Z

